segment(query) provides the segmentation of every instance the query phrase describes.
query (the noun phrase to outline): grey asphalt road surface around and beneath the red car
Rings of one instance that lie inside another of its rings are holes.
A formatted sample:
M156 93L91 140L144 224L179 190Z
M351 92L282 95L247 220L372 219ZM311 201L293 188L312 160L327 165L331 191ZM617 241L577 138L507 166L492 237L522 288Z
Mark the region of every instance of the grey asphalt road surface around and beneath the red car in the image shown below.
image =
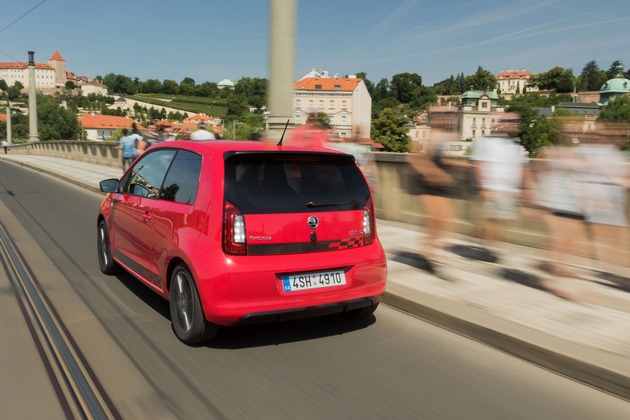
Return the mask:
M223 329L210 345L187 347L170 329L165 301L128 275L100 273L101 199L0 162L0 200L10 213L0 213L2 221L11 234L23 230L15 234L17 246L123 418L630 415L626 401L383 306L367 322L327 317ZM9 365L39 374L26 357L0 355L0 390L13 383ZM4 391L0 414L13 418L54 404L27 386Z

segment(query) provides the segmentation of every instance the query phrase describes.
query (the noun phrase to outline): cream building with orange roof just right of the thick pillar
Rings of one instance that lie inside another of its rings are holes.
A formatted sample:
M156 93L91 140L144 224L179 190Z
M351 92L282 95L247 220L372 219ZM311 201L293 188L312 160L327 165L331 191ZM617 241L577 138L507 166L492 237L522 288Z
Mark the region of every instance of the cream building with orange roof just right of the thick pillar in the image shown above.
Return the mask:
M325 113L341 138L370 138L372 98L356 76L304 77L293 90L293 123L304 124L309 114Z

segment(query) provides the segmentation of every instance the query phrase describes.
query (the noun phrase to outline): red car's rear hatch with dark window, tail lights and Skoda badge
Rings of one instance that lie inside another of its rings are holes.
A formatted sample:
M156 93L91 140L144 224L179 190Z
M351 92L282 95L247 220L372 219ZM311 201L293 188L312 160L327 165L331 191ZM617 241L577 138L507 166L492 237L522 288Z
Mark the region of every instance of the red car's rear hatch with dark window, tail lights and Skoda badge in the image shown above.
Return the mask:
M326 252L374 240L369 187L352 155L287 151L225 156L224 250Z

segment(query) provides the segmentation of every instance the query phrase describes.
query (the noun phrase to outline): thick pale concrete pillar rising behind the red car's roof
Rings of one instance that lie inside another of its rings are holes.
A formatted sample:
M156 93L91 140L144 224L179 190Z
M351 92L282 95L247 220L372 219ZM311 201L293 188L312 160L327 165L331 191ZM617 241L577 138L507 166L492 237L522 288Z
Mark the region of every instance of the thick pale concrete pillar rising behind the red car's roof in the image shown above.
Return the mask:
M267 136L278 141L287 120L293 121L296 0L269 0L269 85ZM289 123L291 126L291 123Z

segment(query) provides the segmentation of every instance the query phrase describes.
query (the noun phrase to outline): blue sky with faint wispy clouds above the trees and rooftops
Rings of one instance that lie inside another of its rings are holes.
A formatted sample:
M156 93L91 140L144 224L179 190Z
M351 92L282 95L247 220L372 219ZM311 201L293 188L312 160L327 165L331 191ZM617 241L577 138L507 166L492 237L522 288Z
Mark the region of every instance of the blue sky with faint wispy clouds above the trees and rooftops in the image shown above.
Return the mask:
M296 79L312 68L366 72L374 83L417 73L425 85L479 66L498 74L595 60L630 65L627 0L296 1ZM265 0L2 0L0 61L197 83L268 77Z

